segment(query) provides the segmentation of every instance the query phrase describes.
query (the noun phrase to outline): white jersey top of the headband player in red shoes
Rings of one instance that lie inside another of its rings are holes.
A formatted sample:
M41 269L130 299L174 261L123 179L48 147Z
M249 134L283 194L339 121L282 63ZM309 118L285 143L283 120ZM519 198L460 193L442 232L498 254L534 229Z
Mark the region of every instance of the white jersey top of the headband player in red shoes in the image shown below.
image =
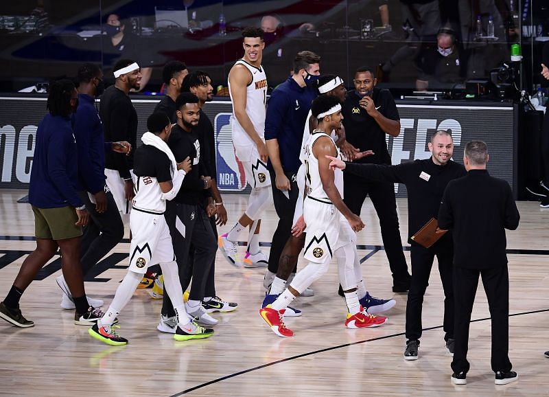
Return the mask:
M307 183L307 196L311 196L314 199L323 199L327 200L328 195L324 191L322 181L320 180L320 172L318 171L318 159L314 157L313 146L316 140L320 137L329 137L329 139L334 144L338 154L336 157L341 158L339 148L336 146L334 139L321 131L314 131L309 135L309 140L307 141L307 146L305 148L305 155L307 159L305 160L305 177ZM336 168L334 171L335 184L338 189L341 198L343 198L343 171Z

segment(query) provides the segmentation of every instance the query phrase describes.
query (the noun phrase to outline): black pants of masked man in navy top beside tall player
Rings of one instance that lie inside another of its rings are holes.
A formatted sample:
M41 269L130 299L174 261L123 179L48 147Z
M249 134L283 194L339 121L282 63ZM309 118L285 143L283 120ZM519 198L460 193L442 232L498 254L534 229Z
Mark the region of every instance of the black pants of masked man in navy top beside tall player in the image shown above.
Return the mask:
M294 220L294 212L296 209L297 198L299 196L299 188L295 181L295 174L290 172L284 172L286 177L290 180L290 186L292 190L288 190L288 197L285 192L277 189L276 181L277 174L274 171L269 170L270 181L272 186L272 201L274 202L274 209L279 216L279 224L277 230L272 235L272 245L269 253L269 271L277 273L279 269L279 260L288 241L288 238L292 235L292 221ZM297 265L293 270L293 273L297 271Z

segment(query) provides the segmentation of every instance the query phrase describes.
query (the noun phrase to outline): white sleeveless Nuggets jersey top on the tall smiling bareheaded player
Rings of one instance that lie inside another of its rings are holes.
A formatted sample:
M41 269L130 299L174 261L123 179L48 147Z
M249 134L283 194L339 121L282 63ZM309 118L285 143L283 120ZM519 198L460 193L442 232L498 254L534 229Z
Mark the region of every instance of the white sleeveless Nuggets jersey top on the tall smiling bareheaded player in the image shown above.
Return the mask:
M252 75L252 82L246 87L246 114L250 117L250 121L259 137L265 140L265 104L267 102L267 75L265 69L261 65L259 67L250 65L244 59L237 60L235 65L244 65ZM231 100L233 100L231 80L229 80L229 93L231 94ZM242 146L254 144L238 122L234 111L231 124L233 126L233 144Z

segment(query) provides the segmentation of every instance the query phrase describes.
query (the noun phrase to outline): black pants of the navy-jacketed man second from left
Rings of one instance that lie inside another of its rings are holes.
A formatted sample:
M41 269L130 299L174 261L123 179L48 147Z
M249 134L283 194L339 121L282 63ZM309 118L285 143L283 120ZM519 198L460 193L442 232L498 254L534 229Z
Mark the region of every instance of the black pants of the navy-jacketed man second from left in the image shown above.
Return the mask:
M106 193L107 209L102 214L95 211L95 204L89 199L88 192L78 192L78 196L90 214L90 220L82 231L80 248L82 275L86 280L90 269L124 238L124 223L110 192Z

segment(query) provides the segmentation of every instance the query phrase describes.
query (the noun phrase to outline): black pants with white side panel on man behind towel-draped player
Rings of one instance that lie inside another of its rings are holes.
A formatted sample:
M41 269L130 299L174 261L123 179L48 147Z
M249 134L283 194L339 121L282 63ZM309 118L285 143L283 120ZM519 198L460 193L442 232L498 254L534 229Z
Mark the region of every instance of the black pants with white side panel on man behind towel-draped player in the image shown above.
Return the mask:
M172 235L172 244L179 269L179 281L183 291L193 280L189 300L205 297L207 277L215 259L218 242L211 229L211 221L200 205L167 202L166 223ZM189 261L189 249L194 247L193 261ZM162 314L175 315L170 297L164 291Z

